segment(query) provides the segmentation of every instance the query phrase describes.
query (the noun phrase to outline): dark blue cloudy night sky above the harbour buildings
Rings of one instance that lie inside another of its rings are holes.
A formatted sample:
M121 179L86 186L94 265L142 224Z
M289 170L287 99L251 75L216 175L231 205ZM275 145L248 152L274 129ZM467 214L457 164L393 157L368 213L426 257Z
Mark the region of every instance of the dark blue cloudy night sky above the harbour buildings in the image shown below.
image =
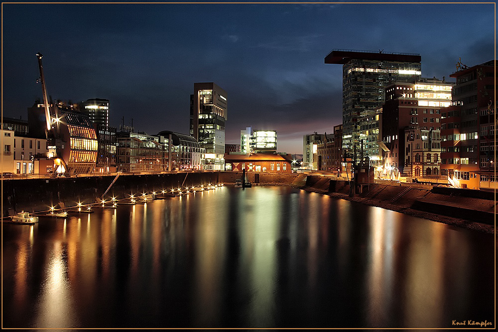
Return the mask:
M110 100L110 123L189 132L195 82L228 94L226 143L277 130L280 152L342 122L332 49L419 53L422 76L452 80L495 55L495 4L2 4L3 116L48 94Z

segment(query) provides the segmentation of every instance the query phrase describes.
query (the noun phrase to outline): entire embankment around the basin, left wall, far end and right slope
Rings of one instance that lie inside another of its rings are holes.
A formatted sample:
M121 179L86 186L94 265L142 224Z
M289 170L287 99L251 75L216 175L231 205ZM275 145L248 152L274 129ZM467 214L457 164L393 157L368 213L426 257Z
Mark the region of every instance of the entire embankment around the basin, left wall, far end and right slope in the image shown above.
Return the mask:
M348 181L308 174L248 173L253 185L292 186L419 218L493 233L495 231L494 193L409 185L372 184L362 194L350 197ZM20 212L46 211L63 203L66 207L95 203L116 179L115 176L92 176L56 179L24 179L2 181L2 216ZM106 197L127 198L128 195L160 192L185 186L208 183L234 184L242 172L189 172L166 174L121 175Z

